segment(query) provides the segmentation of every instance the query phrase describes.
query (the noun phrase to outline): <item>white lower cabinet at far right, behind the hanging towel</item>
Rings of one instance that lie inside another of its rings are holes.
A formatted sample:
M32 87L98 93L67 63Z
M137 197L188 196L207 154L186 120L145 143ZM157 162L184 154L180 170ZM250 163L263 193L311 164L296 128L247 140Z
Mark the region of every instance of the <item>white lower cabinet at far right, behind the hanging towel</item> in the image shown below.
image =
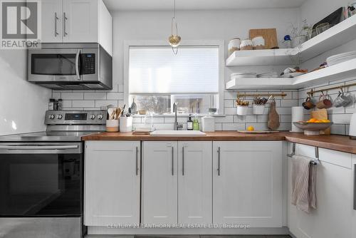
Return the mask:
M296 145L296 154L315 157L315 148ZM290 203L291 170L288 160L288 227L297 238L356 237L353 209L354 171L352 155L319 148L316 165L317 209L307 214ZM352 232L354 232L352 234Z

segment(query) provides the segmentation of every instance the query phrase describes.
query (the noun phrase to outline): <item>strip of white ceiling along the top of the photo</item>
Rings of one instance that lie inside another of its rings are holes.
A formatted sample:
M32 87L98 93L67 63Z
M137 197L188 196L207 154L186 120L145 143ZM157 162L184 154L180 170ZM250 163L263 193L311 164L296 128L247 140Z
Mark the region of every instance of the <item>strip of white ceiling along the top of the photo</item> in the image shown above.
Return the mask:
M176 0L177 10L227 10L298 7L305 0ZM172 10L173 0L104 0L110 11Z

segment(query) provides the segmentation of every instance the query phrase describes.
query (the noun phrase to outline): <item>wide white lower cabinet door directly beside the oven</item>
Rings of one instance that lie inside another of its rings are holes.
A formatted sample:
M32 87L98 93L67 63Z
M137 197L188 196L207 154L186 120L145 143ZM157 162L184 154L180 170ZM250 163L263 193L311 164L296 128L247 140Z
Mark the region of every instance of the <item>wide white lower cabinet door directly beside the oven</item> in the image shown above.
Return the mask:
M85 145L84 224L139 224L140 141Z

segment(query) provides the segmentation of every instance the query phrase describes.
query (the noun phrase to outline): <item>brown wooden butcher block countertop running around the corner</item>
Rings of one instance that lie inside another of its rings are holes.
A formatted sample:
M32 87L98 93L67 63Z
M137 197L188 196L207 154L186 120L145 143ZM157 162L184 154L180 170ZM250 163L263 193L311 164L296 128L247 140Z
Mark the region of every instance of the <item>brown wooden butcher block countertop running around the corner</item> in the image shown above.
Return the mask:
M143 141L278 141L316 146L341 152L356 154L356 140L345 135L303 135L301 133L245 134L236 131L216 131L199 136L152 136L133 133L93 133L85 135L82 140L143 140Z

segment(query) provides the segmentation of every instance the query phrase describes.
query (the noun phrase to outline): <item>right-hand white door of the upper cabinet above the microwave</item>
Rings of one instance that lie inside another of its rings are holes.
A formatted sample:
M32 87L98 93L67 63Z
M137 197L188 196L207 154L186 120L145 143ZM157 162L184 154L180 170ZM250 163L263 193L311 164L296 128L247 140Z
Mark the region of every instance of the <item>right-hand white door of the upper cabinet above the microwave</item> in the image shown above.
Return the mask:
M63 42L98 42L98 0L63 0Z

